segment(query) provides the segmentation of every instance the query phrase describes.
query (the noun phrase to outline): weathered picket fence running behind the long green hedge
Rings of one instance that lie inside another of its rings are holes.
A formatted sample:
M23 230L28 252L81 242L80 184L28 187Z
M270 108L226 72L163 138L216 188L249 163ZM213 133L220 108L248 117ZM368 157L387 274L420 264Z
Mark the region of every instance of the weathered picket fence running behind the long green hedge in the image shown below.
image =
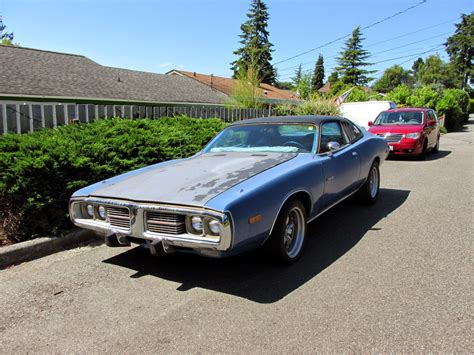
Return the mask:
M0 101L0 133L31 133L70 123L121 117L126 119L173 117L216 117L234 122L271 115L271 109L240 109L225 106L138 106L94 105L58 102Z

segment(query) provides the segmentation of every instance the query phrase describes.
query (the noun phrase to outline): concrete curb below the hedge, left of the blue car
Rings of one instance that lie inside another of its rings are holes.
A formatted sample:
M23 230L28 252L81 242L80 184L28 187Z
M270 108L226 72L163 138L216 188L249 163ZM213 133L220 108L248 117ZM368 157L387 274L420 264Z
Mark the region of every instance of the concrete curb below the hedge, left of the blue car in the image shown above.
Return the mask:
M62 250L72 249L79 244L99 241L89 230L75 230L62 237L44 237L0 248L0 269L25 261L42 258Z

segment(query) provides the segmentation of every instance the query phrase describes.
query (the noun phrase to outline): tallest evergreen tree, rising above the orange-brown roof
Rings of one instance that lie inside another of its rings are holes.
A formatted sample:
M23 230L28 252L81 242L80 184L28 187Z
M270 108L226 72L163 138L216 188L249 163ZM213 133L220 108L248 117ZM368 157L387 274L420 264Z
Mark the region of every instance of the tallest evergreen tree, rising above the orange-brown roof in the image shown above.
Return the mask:
M261 82L273 84L276 82L276 72L271 64L273 44L268 39L267 5L262 0L252 0L247 17L248 20L240 26L242 47L234 52L238 59L232 62L233 77L238 78L242 72L251 68Z

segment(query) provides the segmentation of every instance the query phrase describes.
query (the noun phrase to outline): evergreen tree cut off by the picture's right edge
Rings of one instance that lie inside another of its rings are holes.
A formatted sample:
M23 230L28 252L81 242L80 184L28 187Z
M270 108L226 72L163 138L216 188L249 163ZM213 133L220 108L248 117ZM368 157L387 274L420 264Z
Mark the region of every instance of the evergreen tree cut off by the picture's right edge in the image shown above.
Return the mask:
M456 24L454 35L445 43L446 52L449 54L455 70L462 76L462 88L468 82L473 82L473 54L474 54L474 13L463 14L461 22Z

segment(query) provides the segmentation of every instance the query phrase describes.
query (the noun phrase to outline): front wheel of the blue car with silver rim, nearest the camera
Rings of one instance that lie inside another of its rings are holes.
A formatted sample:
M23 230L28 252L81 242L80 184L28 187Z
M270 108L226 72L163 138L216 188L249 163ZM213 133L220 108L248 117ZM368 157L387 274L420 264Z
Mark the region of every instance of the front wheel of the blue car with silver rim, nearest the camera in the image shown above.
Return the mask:
M273 259L292 264L303 253L306 232L306 210L300 201L291 201L280 212L266 249Z

